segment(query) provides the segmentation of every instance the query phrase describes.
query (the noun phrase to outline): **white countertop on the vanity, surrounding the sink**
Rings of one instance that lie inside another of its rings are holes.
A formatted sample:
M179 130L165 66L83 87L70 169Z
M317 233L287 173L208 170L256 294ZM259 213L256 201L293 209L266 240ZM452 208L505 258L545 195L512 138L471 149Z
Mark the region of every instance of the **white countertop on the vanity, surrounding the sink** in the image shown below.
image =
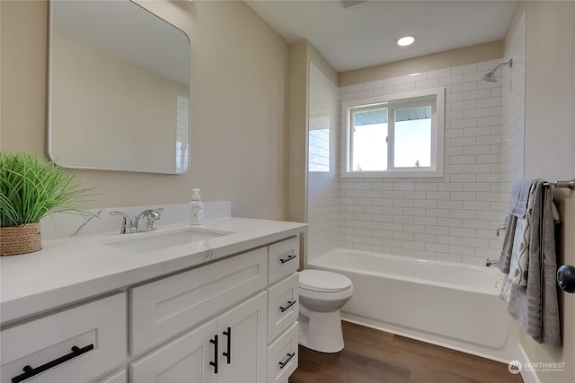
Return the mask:
M108 245L183 228L190 225L51 239L43 241L38 252L1 257L2 324L286 239L305 231L306 224L225 218L193 226L199 231L231 233L216 238L146 252Z

